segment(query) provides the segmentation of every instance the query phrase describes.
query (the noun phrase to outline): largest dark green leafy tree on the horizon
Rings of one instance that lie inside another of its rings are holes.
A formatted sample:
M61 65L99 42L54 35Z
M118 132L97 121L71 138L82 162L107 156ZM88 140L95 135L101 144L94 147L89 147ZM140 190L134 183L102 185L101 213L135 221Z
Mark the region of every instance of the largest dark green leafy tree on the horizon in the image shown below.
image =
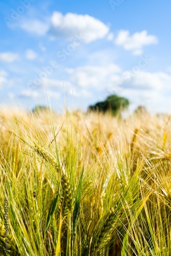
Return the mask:
M126 109L129 104L128 99L113 94L108 96L104 101L90 105L89 111L111 112L113 115L116 115L119 111Z

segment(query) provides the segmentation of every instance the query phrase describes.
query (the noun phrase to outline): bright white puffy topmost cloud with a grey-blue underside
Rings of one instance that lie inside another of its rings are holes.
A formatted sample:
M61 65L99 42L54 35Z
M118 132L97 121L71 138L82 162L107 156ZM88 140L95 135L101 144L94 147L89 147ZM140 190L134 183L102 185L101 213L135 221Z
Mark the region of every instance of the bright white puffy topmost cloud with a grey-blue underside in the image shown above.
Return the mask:
M75 34L82 35L84 42L89 43L105 37L109 27L100 20L85 14L54 12L51 18L49 33L55 38L73 39Z

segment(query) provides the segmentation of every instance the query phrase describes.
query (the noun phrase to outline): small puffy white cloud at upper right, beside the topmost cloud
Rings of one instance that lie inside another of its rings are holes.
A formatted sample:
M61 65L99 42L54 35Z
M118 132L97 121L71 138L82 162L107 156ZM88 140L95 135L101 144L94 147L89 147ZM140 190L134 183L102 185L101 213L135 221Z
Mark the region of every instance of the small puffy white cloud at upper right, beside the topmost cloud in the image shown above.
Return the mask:
M146 30L130 35L128 30L120 30L115 44L122 46L125 50L132 50L134 55L141 55L143 46L157 44L158 39L155 35L148 35Z

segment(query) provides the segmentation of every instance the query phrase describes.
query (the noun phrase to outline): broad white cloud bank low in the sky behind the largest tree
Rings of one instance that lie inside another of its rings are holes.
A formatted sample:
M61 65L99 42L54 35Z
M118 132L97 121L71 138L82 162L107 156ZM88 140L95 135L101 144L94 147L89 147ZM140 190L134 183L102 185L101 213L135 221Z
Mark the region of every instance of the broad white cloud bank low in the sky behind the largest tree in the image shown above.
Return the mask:
M64 82L49 79L47 82L49 89L59 92L64 87L67 94L81 99L84 105L85 102L93 103L116 93L129 98L135 108L141 104L154 112L171 109L168 97L171 94L171 75L167 73L151 73L143 70L136 73L126 72L112 63L106 67L77 67L67 69L66 72L68 78Z

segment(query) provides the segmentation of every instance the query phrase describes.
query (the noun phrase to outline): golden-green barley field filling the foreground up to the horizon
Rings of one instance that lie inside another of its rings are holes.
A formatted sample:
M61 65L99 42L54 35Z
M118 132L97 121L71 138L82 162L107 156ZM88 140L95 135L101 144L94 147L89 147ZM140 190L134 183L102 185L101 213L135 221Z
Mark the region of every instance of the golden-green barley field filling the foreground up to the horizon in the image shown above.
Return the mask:
M0 112L1 255L171 255L171 119Z

